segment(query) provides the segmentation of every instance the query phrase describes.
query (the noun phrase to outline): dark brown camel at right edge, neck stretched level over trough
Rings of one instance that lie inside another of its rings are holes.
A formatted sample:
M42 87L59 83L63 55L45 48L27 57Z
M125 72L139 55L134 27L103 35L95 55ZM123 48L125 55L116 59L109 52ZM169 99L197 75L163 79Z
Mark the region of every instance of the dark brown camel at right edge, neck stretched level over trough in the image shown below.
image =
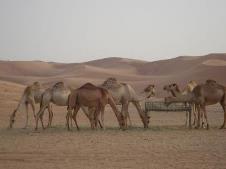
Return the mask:
M209 123L206 114L206 106L220 103L224 110L224 122L220 129L223 129L226 124L226 89L223 85L216 83L214 80L207 80L205 84L197 85L191 93L180 95L178 97L167 97L165 102L170 104L172 102L189 102L199 105L198 108L198 122L196 128L200 127L200 113L204 114L209 129Z

